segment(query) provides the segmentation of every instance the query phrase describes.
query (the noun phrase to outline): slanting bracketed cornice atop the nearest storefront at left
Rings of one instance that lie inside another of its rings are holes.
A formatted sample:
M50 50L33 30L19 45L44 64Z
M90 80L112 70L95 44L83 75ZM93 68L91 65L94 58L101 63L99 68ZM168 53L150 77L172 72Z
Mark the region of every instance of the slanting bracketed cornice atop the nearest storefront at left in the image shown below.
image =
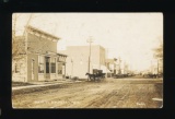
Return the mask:
M45 34L46 36L49 36L49 37L51 37L51 38L54 38L54 39L57 39L57 40L60 39L60 38L57 37L57 36L54 36L54 35L51 35L51 34L49 34L49 33L46 33L46 32L44 32L44 31L42 31L42 29L39 29L39 28L33 27L33 26L31 26L31 25L25 26L25 28L31 28L31 29L33 29L33 31L36 31L36 32L42 33L42 34Z

